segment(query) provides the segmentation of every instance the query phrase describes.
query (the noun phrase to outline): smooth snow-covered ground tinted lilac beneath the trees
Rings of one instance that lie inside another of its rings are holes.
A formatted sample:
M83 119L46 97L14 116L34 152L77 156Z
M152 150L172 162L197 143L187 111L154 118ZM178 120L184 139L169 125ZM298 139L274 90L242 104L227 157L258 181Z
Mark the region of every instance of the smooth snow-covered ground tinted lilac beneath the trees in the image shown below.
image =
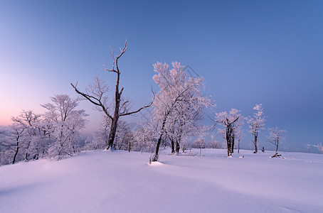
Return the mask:
M323 212L323 155L91 151L0 167L0 212ZM242 158L244 156L244 158Z

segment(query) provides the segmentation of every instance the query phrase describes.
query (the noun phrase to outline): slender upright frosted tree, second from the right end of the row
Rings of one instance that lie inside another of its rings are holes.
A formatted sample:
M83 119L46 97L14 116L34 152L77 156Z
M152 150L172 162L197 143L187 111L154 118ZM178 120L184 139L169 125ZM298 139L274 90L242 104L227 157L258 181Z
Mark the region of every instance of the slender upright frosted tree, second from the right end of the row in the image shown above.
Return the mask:
M262 104L256 104L253 109L256 110L255 114L253 114L253 117L249 116L247 119L247 123L249 124L250 133L253 134L254 140L253 144L255 145L255 152L258 153L258 133L260 132L260 129L264 129L263 126L265 126L265 118L263 117L263 107Z

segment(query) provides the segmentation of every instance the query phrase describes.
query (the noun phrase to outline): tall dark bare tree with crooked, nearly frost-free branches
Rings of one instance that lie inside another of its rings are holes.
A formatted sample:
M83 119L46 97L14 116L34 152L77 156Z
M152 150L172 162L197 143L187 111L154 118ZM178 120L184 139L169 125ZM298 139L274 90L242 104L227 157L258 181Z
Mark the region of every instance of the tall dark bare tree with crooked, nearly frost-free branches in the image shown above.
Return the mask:
M129 111L130 104L129 101L124 101L122 102L122 92L124 87L119 89L120 87L120 69L118 66L118 60L122 57L122 55L125 53L127 50L127 40L125 42L125 46L123 49L120 48L120 55L114 56L113 52L111 51L111 55L113 58L113 64L112 64L112 69L108 69L104 65L104 71L107 72L114 72L117 75L117 79L115 82L115 99L114 99L114 110L112 113L109 112L109 107L107 106L107 97L105 96L105 93L108 92L107 86L105 84L102 84L100 80L97 80L95 84L93 84L93 87L90 88L89 90L85 90L85 92L80 92L80 90L77 89L77 84L71 84L72 87L75 89L75 92L80 94L82 97L85 99L88 99L89 102L94 104L96 107L98 107L100 110L102 110L105 115L111 119L111 126L110 126L110 133L109 133L109 138L107 142L107 147L106 149L111 149L113 151L113 143L115 141L115 134L117 131L117 122L120 118L120 116L127 116L130 114L135 114L139 111L141 111L144 108L150 107L152 105L152 102L144 107L141 107L137 109L136 111ZM154 99L153 99L154 100Z

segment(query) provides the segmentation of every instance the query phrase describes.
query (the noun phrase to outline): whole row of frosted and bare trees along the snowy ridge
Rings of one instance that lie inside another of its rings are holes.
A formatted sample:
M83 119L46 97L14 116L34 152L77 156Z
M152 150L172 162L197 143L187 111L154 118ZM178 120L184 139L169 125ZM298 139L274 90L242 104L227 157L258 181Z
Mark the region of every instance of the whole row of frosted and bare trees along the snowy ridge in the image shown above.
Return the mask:
M71 84L79 95L77 99L65 94L55 95L51 97L52 103L41 104L46 109L45 114L22 111L12 118L13 124L8 129L0 131L1 164L45 157L59 160L83 149L148 151L152 153L150 160L156 161L161 146L170 146L172 154L179 154L192 146L189 142L192 138L197 138L194 147L205 148L205 137L216 125L220 126L218 134L226 140L228 157L231 157L236 142L240 150L245 121L253 135L254 153L258 153L258 134L265 126L262 104L255 105L253 116L243 117L238 109L231 109L215 113L213 126L203 125L205 109L215 111L216 104L211 97L203 94L203 78L188 75L179 62L172 62L171 67L161 62L154 64L153 80L159 86L159 91L152 90L152 102L132 110L132 102L122 96L124 87L120 89L121 70L118 60L126 50L127 41L124 48L120 49L120 55L114 56L112 53L112 68L104 66L103 69L116 75L113 99L107 95L110 91L108 85L95 77L83 91L78 88L78 84ZM83 109L77 109L82 99L93 104L103 114L99 129L85 141L84 146L80 145L80 133L87 124L85 118L88 115ZM120 119L149 107L152 107L152 114L149 119L141 121L135 131ZM276 154L283 132L277 128L270 129L268 141L277 147ZM211 138L209 146L221 147L214 133Z

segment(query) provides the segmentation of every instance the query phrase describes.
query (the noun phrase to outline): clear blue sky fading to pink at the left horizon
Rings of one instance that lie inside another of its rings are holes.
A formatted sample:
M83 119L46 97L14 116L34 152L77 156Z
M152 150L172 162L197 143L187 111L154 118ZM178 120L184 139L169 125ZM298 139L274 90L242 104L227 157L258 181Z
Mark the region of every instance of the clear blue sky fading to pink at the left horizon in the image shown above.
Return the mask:
M266 127L287 130L285 150L323 142L323 1L0 1L0 125L43 113L54 94L77 97L70 82L100 75L112 88L102 65L126 39L121 84L135 108L157 89L152 64L179 61L204 77L216 111L262 103ZM100 114L80 107L97 128Z

